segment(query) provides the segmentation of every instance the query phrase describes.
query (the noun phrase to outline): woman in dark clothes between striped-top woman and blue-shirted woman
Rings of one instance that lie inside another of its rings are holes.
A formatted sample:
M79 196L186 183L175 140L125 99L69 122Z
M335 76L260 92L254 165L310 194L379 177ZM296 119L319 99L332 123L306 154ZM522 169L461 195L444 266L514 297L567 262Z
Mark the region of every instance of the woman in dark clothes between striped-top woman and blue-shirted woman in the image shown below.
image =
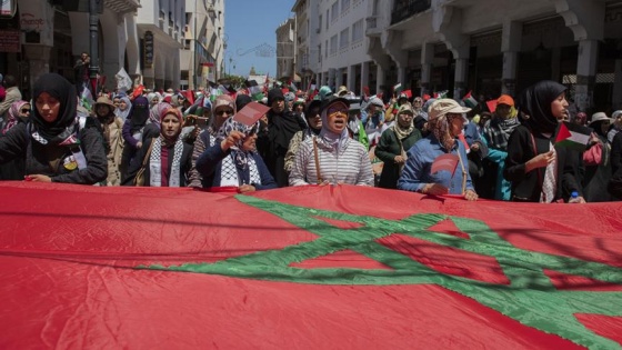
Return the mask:
M414 111L410 103L400 106L398 120L382 133L375 148L375 157L384 162L380 173L379 187L397 189L398 179L408 159L407 152L421 139L421 132L412 122Z

